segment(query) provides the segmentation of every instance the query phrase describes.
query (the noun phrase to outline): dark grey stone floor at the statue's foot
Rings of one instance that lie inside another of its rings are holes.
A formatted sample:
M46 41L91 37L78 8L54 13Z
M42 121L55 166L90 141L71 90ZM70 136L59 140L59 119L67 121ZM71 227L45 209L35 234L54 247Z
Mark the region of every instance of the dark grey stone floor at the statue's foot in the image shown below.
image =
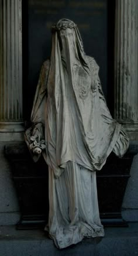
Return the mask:
M138 255L138 223L105 228L104 238L89 238L58 250L42 230L0 226L0 256L134 256Z

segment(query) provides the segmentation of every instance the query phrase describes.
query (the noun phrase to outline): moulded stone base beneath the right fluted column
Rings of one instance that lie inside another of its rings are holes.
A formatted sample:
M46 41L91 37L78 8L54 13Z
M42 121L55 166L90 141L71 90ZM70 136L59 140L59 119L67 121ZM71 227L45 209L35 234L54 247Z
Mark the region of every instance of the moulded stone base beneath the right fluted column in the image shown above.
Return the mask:
M138 122L118 122L123 125L131 141L138 141Z

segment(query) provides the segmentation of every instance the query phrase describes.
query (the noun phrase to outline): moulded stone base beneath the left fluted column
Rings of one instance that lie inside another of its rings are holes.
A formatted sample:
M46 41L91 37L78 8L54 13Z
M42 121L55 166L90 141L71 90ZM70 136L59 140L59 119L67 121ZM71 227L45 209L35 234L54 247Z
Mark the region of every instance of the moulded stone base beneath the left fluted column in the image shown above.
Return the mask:
M23 122L0 122L0 141L24 141Z

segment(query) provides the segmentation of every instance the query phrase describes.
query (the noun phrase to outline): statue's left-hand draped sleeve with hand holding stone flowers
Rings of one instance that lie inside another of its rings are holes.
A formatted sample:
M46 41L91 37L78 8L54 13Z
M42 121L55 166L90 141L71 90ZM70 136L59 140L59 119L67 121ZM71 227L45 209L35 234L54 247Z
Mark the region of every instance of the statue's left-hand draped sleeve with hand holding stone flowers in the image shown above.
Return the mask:
M50 62L49 60L46 60L46 62L43 63L40 71L31 113L32 126L25 132L25 141L35 162L40 158L40 155L45 148L43 130L49 66Z

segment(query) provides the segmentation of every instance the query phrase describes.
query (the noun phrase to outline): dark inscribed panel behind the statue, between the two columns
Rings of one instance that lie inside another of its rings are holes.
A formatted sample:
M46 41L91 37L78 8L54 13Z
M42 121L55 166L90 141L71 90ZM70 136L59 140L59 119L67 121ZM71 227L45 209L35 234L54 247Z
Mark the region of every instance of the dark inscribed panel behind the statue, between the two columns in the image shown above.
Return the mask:
M112 107L113 13L115 11L113 2L112 5L108 0L28 0L23 2L23 108L25 120L30 118L42 63L50 58L51 25L61 18L68 18L77 23L85 53L93 56L100 66L99 76L104 94L107 100L109 98L109 105Z

